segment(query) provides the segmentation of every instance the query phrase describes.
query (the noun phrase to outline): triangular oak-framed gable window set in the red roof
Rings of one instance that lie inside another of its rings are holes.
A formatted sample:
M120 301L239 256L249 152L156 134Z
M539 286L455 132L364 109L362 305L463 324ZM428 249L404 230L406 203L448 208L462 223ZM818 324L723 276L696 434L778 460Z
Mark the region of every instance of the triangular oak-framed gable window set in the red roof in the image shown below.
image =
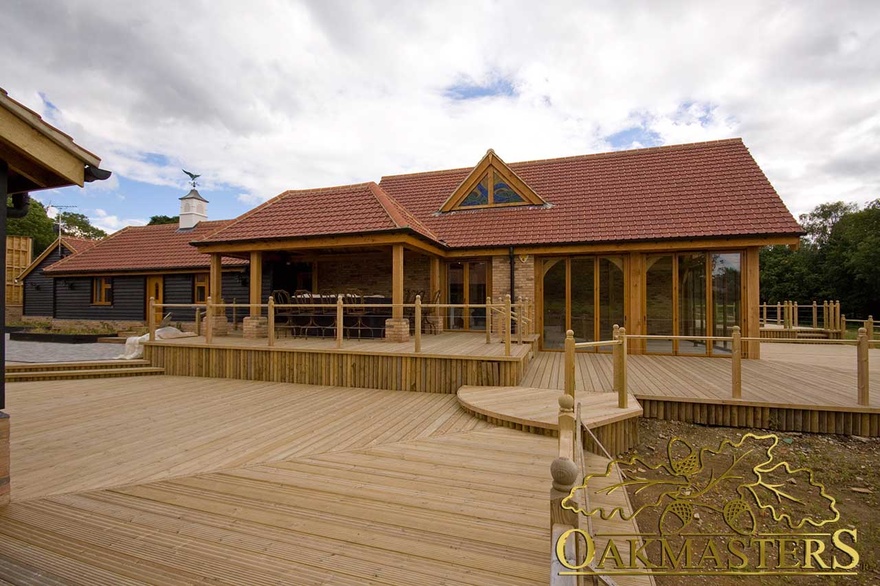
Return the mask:
M492 149L440 208L441 212L501 206L544 205Z

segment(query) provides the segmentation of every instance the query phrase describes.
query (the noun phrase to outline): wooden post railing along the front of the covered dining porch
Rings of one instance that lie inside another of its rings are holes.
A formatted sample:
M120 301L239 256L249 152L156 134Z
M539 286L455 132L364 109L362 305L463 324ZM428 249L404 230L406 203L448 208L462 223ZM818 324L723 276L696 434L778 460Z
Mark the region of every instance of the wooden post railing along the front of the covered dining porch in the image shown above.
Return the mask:
M363 319L364 312L367 310L390 311L388 318L393 315L395 310L399 309L399 313L411 317L410 329L412 330L413 351L420 353L422 351L422 335L425 333L426 322L433 332L437 332L445 318L452 315L452 310L461 310L469 312L470 310L485 310L486 312L486 343L491 344L494 340L493 334L497 334L501 342L504 343L504 355L511 355L512 332L517 332L517 342L522 344L524 340L529 338L533 332L534 324L534 305L522 297L516 303L512 303L510 295L506 295L502 301L493 303L490 298L486 299L485 304L460 304L460 303L422 303L421 296L417 295L414 303L345 303L343 296L338 296L336 303L307 303L307 304L280 304L275 303L273 298L269 298L268 303L215 303L211 297L208 297L206 303L156 303L155 298L150 298L149 309L147 311L147 328L149 331L150 341L156 339L156 311L164 312L166 309L171 310L192 310L195 317L195 333L196 335L204 335L206 344L214 343L214 334L216 324L214 319L208 319L208 316L222 318L226 315L227 310L231 309L233 316L237 315L238 310L247 310L250 315L254 310L262 316L265 310L267 319L266 340L269 347L275 346L277 341L277 330L289 328L295 331L297 327L302 330L313 330L315 333L320 332L320 337L329 337L327 332L332 332L332 337L336 340L336 348L342 348L345 332L352 329L369 329L367 327L351 328L346 327L346 317L354 316L356 319ZM316 313L306 313L316 312ZM294 326L290 324L282 324L284 320L292 320L297 317L308 317L309 322L305 326ZM374 319L382 319L384 315L374 314ZM204 325L202 325L202 318ZM279 318L281 318L279 320ZM434 321L430 321L431 318ZM316 319L320 321L317 323ZM497 319L498 324L493 325ZM341 327L339 327L341 325ZM497 331L496 331L497 330Z

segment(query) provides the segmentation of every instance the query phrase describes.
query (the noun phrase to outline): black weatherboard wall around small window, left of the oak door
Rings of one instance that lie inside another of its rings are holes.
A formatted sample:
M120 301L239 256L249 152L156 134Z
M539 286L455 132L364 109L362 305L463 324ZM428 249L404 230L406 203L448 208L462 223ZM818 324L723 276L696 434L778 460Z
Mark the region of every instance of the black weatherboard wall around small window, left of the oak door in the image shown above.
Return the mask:
M143 276L113 278L113 304L92 305L91 277L56 277L57 319L143 321L146 316L146 280Z

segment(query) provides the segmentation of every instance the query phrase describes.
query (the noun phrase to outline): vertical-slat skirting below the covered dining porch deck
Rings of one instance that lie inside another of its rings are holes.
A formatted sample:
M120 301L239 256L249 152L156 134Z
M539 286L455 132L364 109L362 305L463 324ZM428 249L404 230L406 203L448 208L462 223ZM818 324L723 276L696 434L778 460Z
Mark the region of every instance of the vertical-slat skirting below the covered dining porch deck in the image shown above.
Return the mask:
M148 344L144 357L172 376L197 376L454 394L462 385L512 386L528 356L421 356Z

